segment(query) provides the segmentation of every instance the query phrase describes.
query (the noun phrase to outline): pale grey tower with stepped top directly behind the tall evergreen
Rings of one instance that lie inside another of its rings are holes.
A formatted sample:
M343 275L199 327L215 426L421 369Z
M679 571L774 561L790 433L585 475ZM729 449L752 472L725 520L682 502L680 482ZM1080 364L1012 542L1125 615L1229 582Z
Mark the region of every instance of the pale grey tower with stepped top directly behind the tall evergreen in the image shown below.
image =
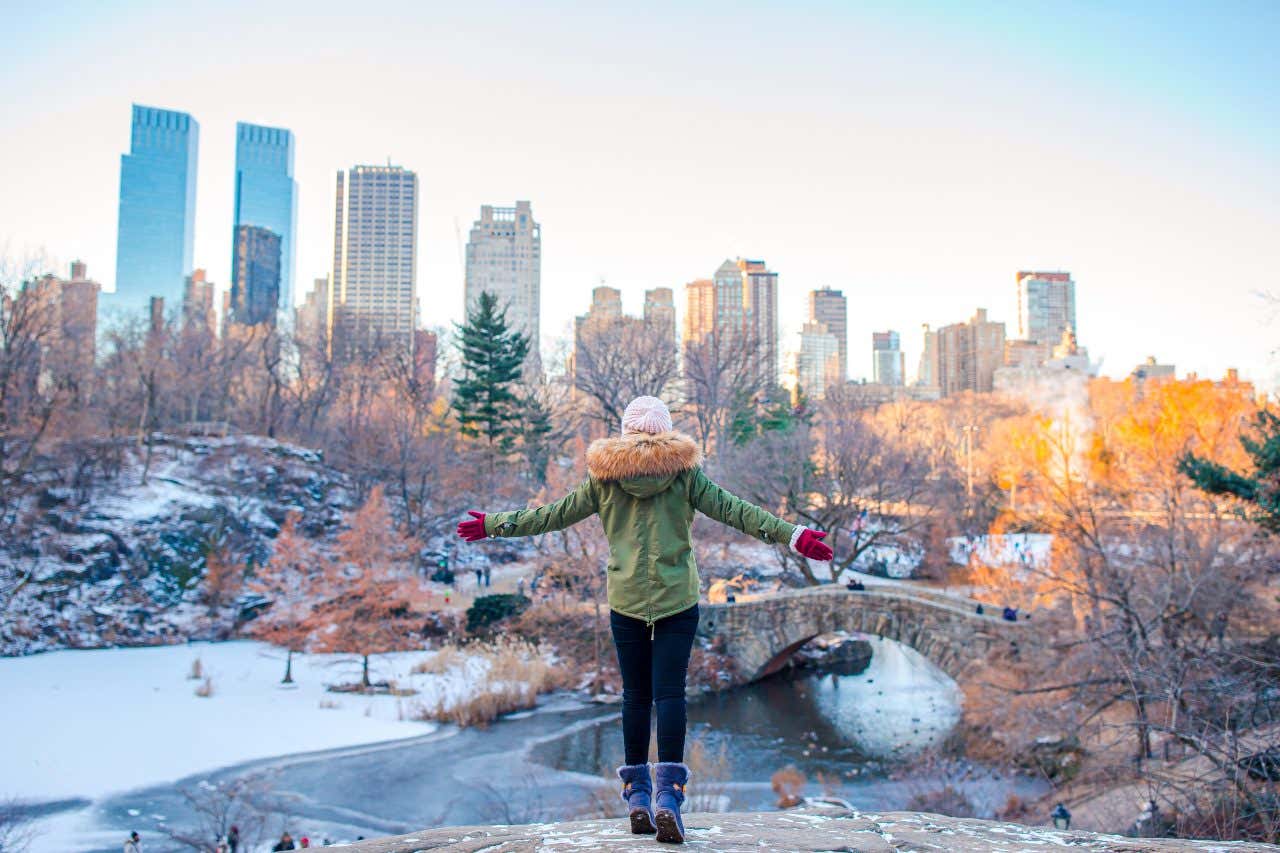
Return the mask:
M507 309L508 325L530 338L530 364L536 364L540 343L541 282L543 233L530 202L481 206L467 240L467 309L483 292L497 296Z

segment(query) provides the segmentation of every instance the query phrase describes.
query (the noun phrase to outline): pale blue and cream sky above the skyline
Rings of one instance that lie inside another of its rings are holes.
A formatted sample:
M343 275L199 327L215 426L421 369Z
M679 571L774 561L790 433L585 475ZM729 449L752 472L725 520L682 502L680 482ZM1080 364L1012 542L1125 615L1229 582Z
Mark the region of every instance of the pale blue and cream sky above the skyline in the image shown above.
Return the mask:
M1280 387L1280 4L65 3L0 0L0 255L114 287L133 102L201 126L196 266L229 280L237 120L297 140L298 298L329 272L337 170L417 172L426 325L463 310L483 204L532 202L543 343L604 282L727 257L870 334L977 307L1016 336L1015 273L1069 270L1102 371L1148 355Z

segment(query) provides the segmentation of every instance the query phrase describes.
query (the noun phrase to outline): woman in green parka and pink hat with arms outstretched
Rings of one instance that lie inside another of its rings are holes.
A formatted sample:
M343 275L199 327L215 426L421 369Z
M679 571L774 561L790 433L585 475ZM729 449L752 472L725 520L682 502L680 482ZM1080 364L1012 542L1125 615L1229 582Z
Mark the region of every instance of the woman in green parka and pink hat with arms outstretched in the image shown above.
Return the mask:
M570 494L513 512L471 511L458 524L467 542L563 530L599 514L609 539L608 594L613 644L622 671L622 743L618 767L632 833L682 843L689 767L685 766L685 676L698 629L698 566L690 525L694 510L768 543L787 543L812 560L831 560L826 533L788 524L735 497L703 473L698 444L672 432L657 397L637 397L622 415L622 435L586 451L588 479ZM649 776L649 716L658 711L658 763Z

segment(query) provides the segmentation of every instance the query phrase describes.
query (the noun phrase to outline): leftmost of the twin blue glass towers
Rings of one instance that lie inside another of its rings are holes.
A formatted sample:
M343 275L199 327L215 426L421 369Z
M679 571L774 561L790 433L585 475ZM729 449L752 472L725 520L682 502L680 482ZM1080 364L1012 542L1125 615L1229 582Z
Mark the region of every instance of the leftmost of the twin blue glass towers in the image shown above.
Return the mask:
M138 314L151 297L182 302L196 234L200 124L186 113L133 105L120 156L120 219L111 310Z

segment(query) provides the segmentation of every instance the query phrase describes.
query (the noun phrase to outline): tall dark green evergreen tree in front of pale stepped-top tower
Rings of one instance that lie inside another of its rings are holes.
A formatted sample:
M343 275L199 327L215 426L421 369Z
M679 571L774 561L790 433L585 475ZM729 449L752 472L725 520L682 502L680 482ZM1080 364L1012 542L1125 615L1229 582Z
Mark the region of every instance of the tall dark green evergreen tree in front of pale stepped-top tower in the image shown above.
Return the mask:
M529 355L529 337L507 325L507 310L488 291L457 325L462 377L454 383L453 410L463 435L484 438L490 450L511 450L524 402L516 384Z

